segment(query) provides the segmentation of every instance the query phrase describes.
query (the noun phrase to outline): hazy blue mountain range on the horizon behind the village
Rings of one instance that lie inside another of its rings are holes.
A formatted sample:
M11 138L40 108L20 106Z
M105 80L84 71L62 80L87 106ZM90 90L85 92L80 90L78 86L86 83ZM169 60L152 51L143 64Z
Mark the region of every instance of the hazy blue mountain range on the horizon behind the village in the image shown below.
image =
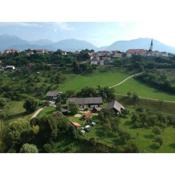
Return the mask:
M13 35L0 35L0 51L8 48L14 48L18 50L25 49L48 49L57 50L62 49L65 51L76 51L82 49L93 50L119 50L126 51L128 49L149 49L151 39L150 38L138 38L133 40L116 41L109 46L97 47L90 42L77 39L66 39L58 42L53 42L47 39L41 39L37 41L23 40ZM169 53L175 53L175 47L161 43L158 40L153 40L153 50L165 51Z

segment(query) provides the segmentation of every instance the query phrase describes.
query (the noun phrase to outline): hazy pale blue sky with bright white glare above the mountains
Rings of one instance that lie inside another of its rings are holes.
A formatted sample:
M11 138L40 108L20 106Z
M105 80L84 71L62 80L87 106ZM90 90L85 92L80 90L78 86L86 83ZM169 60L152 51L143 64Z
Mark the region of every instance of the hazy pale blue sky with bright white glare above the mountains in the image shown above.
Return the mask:
M97 46L109 45L117 40L149 37L175 46L175 26L168 22L1 22L0 34L16 35L26 40L75 38Z

